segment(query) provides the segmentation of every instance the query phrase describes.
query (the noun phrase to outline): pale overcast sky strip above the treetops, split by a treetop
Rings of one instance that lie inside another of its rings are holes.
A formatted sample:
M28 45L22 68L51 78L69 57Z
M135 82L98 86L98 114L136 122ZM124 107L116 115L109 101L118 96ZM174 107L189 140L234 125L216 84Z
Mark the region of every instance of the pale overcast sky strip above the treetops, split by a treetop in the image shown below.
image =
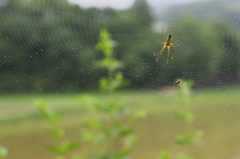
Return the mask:
M112 7L115 9L125 9L131 7L134 0L68 0L71 3L79 4L82 7ZM188 3L197 0L147 0L150 6L167 7L173 4Z

